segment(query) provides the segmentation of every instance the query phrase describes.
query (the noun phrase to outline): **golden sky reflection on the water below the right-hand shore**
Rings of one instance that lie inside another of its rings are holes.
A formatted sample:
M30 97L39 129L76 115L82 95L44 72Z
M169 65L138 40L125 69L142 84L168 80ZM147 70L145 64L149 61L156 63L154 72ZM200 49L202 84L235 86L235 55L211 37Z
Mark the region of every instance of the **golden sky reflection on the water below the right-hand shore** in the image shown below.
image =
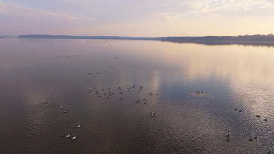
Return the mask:
M133 46L133 47L132 47ZM134 47L135 46L135 47ZM242 45L197 45L130 42L123 46L139 59L180 68L182 80L217 78L231 84L267 83L274 87L274 48ZM134 51L132 51L134 50Z

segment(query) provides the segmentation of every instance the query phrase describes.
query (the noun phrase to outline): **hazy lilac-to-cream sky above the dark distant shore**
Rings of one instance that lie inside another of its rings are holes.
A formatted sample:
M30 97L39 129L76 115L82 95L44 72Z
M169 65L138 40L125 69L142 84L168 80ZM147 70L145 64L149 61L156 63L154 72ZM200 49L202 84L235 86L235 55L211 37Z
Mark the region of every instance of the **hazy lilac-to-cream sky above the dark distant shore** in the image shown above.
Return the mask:
M0 0L0 34L274 33L274 0Z

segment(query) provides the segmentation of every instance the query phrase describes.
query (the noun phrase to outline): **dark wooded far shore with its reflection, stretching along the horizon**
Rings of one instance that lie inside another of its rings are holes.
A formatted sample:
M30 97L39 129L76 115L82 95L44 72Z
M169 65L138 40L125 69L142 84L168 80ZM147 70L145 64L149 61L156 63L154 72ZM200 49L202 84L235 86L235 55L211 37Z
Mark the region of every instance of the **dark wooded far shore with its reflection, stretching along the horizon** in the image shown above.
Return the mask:
M201 36L201 37L121 37L121 36L73 36L73 35L19 35L18 38L86 39L86 40L151 40L203 45L253 45L274 46L274 35Z

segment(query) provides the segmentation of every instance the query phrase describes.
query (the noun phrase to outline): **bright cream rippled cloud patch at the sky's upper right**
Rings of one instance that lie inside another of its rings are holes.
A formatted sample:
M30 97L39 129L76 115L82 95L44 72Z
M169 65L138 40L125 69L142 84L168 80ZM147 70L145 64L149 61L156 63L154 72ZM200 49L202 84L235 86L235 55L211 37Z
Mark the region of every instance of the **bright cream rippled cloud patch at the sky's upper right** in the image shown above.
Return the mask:
M196 19L224 18L231 13L242 16L247 11L260 13L258 10L274 8L274 4L268 0L194 0L181 2L180 6L183 11L166 12L161 15L168 21L190 19L190 17Z

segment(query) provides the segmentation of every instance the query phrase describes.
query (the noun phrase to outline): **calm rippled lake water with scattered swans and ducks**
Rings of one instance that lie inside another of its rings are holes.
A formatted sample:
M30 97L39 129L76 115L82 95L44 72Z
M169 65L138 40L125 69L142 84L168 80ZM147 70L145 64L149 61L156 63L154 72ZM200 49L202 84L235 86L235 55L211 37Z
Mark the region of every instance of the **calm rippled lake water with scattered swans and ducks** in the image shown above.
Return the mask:
M0 48L1 153L273 151L273 47L2 39Z

